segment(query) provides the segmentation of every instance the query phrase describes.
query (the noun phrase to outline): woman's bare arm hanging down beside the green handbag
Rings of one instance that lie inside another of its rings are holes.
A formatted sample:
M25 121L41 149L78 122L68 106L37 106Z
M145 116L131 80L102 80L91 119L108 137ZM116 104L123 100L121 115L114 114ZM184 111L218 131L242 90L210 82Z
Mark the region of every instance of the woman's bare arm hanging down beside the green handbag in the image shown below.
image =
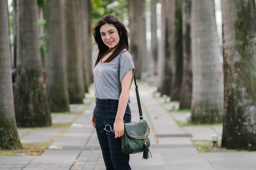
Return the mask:
M133 76L133 70L129 71L128 74L122 79L122 92L119 97L119 104L116 113L116 119L114 122L114 131L115 131L115 138L121 137L124 135L125 126L123 123L123 119L125 116L125 110L128 104L128 99L130 95L130 88L131 88L131 79Z

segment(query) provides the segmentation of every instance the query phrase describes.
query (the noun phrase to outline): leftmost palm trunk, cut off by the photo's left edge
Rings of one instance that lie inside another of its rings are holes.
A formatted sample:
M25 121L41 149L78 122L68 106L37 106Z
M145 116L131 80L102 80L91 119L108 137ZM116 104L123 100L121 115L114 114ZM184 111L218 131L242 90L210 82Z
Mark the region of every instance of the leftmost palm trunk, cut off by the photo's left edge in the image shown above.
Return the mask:
M20 149L11 77L7 1L0 1L0 150Z

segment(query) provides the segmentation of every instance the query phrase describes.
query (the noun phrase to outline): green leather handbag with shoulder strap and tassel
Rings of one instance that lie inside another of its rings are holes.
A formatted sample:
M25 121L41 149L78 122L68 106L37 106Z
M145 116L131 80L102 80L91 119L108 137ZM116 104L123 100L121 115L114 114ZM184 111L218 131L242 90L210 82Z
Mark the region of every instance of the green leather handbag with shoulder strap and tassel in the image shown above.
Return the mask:
M119 63L119 70L120 70L120 63ZM138 108L140 113L140 121L124 123L125 132L124 132L124 135L121 137L121 143L122 143L121 149L122 149L122 152L126 154L143 152L143 159L148 159L149 158L148 152L150 153L150 150L148 149L150 146L150 141L148 138L148 135L150 133L150 128L148 126L147 121L143 119L142 109L140 104L140 96L139 96L138 85L135 79L135 75L134 75L134 83L136 86L136 96L137 96L137 103L138 103ZM119 94L121 94L120 89L122 88L121 88L121 82L119 81Z

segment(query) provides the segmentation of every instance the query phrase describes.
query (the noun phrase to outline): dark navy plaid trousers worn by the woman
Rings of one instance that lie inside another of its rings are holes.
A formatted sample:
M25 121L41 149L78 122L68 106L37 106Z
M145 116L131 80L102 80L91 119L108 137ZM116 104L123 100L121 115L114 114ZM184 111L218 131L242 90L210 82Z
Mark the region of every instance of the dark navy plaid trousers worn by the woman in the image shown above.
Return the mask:
M116 118L118 100L97 99L93 115L95 118L96 132L102 150L106 170L131 170L129 165L130 156L121 150L121 139L115 138L113 132L103 130L106 125L113 125ZM127 104L124 116L125 122L131 122L131 110ZM109 130L109 127L107 128Z

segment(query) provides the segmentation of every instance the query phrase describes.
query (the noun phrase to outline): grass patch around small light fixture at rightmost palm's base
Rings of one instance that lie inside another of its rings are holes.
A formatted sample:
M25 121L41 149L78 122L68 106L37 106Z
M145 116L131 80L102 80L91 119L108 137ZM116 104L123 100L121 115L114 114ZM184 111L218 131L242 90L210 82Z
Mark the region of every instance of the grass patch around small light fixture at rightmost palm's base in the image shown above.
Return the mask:
M211 141L192 141L198 152L247 152L247 150L229 150L221 147L221 140L218 141L218 147L213 147Z

